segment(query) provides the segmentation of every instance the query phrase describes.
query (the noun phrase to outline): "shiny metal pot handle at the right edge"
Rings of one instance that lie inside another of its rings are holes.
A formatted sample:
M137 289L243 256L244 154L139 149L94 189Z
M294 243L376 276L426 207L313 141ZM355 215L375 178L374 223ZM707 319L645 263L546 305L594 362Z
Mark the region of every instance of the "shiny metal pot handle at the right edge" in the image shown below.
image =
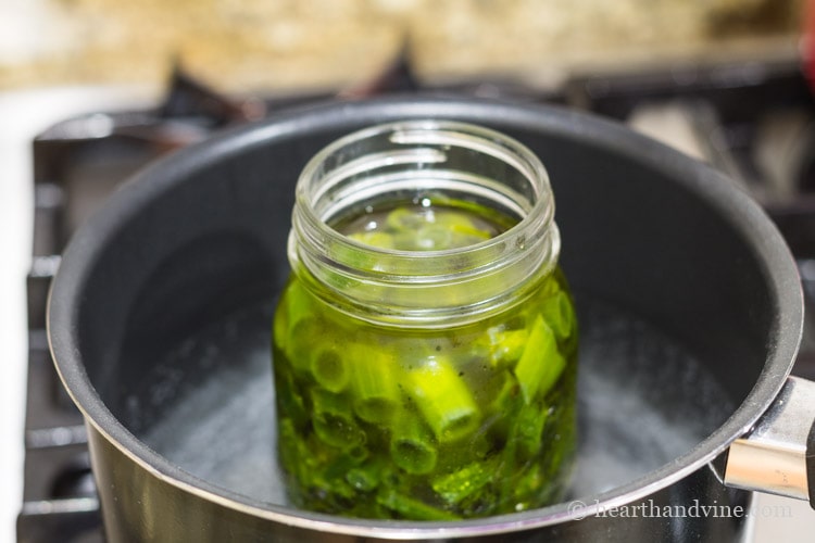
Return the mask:
M815 509L815 382L788 377L753 429L730 444L728 487L807 500Z

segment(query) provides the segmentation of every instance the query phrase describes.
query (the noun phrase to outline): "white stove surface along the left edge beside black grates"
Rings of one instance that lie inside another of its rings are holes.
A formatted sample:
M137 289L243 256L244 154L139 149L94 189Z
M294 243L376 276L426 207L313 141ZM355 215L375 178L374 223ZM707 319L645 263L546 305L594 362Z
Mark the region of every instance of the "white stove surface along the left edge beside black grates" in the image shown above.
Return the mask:
M32 260L34 186L32 141L58 121L95 110L138 108L150 89L46 88L0 92L0 541L16 541L23 500L28 329L25 278Z

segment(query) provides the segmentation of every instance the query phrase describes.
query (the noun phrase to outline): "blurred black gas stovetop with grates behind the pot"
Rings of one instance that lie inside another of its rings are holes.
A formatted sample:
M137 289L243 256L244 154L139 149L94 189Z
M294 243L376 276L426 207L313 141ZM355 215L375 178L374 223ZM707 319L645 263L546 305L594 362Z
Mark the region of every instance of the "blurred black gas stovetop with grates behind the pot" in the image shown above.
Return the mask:
M575 77L555 89L512 81L432 87L399 58L374 80L335 93L227 97L177 70L160 103L61 121L33 141L34 230L27 277L28 368L18 542L102 541L83 419L48 351L46 299L60 254L82 222L146 163L225 127L339 96L489 96L554 103L629 123L724 169L776 220L815 303L815 102L798 62L736 62ZM794 372L815 378L815 311Z

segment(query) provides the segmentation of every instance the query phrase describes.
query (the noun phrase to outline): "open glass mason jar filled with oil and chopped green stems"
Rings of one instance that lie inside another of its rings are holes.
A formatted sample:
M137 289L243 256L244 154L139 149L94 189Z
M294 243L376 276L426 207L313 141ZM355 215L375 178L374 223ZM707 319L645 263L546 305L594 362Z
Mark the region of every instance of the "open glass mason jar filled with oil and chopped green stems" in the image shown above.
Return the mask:
M468 124L371 127L305 166L273 332L296 505L452 520L561 497L577 326L553 215L537 156Z

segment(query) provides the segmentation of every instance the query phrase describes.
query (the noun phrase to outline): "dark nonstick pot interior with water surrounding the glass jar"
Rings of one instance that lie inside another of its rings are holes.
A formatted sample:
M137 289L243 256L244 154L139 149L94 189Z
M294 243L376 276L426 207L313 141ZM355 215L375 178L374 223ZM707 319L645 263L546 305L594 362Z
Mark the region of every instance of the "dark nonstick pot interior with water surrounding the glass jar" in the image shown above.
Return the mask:
M794 265L747 195L613 124L415 98L281 114L181 151L112 198L68 248L49 321L90 424L185 488L301 515L276 467L269 354L294 184L329 141L425 116L504 131L549 172L581 329L569 500L641 497L750 428L789 371L802 316ZM567 518L565 503L523 515Z

